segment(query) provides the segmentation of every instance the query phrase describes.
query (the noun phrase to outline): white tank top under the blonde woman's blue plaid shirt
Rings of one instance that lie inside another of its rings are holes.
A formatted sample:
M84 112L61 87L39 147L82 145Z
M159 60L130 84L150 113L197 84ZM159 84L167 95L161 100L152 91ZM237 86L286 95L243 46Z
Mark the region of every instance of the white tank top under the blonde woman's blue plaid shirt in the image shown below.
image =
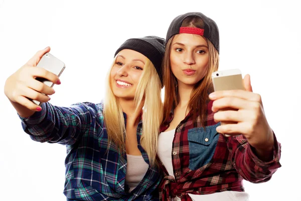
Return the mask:
M148 164L144 161L143 157L128 155L126 154L127 164L126 164L126 174L125 183L129 187L129 192L131 192L143 179L147 169Z

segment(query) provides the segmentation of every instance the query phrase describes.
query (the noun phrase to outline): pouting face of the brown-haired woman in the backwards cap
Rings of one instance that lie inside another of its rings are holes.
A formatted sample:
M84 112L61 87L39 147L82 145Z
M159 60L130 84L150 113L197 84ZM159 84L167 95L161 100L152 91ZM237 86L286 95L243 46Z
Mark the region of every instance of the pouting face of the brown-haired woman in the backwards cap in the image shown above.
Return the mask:
M206 39L194 34L178 34L174 37L170 64L178 84L195 85L205 76L209 64Z

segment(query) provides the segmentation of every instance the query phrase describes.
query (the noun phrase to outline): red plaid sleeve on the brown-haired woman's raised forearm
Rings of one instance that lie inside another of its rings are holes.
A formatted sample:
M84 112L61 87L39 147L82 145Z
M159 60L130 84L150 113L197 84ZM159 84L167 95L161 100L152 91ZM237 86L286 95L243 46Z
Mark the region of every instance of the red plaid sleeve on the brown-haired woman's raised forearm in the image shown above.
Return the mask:
M281 144L277 142L275 134L273 159L271 161L260 160L252 150L247 139L243 135L228 137L227 146L232 162L237 172L247 181L262 183L270 180L273 173L281 167L279 163Z

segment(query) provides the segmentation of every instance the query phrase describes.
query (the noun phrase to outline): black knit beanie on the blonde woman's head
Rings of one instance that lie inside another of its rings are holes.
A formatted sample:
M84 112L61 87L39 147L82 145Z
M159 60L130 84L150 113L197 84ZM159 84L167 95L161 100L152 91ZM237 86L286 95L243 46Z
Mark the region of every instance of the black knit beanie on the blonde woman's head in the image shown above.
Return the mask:
M157 36L145 36L142 38L131 38L126 40L115 52L116 56L118 52L123 49L130 49L137 51L146 56L154 64L161 83L163 84L162 76L162 60L165 53L165 39Z

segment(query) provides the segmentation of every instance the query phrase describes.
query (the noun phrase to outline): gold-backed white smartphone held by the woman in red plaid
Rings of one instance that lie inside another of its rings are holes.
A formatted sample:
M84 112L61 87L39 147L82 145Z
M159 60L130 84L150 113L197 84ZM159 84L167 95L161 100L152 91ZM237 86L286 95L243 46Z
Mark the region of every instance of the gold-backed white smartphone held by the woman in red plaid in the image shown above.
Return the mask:
M220 70L212 73L212 81L214 91L220 90L235 90L241 89L245 90L243 79L241 75L241 71L239 69L231 69L231 70ZM232 108L225 108L220 111L226 110L235 110ZM237 122L222 122L221 124L236 124ZM225 134L226 137L230 135Z

